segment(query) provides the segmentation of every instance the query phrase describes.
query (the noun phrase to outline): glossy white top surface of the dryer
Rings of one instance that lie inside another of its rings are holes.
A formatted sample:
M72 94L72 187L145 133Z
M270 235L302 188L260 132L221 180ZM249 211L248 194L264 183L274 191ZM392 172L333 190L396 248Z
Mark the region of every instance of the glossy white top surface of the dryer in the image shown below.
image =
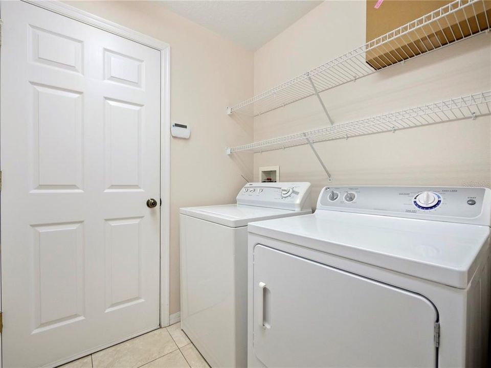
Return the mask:
M252 222L249 232L462 289L489 237L483 225L330 211Z

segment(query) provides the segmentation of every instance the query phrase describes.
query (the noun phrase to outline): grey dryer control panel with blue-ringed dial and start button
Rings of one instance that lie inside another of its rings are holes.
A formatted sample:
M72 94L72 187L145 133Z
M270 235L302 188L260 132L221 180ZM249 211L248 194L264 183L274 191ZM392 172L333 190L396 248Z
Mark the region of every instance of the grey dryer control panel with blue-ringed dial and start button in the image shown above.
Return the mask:
M491 223L491 191L469 187L324 187L317 210Z

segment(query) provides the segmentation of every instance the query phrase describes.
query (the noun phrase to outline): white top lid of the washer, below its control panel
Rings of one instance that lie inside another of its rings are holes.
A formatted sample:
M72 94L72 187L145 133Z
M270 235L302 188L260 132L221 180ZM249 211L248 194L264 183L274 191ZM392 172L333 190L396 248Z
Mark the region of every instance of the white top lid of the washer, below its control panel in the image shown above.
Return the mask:
M312 211L280 210L244 204L224 204L182 208L183 215L218 223L229 227L247 226L251 221L310 214Z

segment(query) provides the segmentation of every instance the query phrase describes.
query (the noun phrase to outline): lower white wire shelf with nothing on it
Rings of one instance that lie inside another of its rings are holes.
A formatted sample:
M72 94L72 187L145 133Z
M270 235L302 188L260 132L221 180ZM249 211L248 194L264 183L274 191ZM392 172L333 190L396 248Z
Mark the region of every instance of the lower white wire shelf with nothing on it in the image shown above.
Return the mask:
M349 123L289 134L265 141L227 148L227 153L240 151L264 152L288 147L325 142L438 124L461 119L476 119L491 114L491 90L452 98L424 106L409 108Z

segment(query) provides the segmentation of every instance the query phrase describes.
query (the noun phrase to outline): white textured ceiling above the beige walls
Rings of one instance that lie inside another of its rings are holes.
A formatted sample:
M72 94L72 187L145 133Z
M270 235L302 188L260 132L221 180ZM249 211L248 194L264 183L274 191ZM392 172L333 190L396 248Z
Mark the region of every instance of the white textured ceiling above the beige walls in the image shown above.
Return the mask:
M257 50L322 1L162 1L169 10Z

